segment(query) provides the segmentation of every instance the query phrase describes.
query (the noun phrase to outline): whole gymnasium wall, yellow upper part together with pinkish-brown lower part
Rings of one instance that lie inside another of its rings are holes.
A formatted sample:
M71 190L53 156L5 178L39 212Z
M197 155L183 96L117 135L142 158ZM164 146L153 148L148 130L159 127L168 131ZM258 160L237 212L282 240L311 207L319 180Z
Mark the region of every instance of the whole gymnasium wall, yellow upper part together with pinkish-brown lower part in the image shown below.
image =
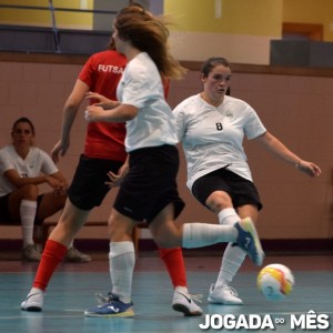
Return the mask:
M155 0L151 0L155 1ZM39 6L37 0L13 0L16 4ZM46 1L47 2L47 1ZM215 7L221 2L222 7ZM1 3L8 3L0 0ZM53 1L65 7L68 1ZM71 1L91 8L91 0ZM240 10L242 8L242 10ZM268 65L271 39L281 38L282 22L322 23L324 41L333 41L331 0L164 0L165 13L176 23L171 30L174 56L191 70L186 78L173 82L169 102L174 107L201 89L199 65L214 54L226 57L233 65L232 94L252 104L266 128L299 153L323 170L319 179L309 179L295 169L276 161L255 142L246 142L246 151L264 209L260 214L260 233L269 240L333 238L332 142L333 73L332 70L272 69ZM10 20L9 20L10 18ZM9 20L9 21L8 21ZM43 24L48 17L17 16L0 11L1 23L30 22ZM91 26L73 17L62 17L69 28ZM37 144L50 152L59 138L63 103L85 61L84 57L0 53L0 143L10 142L13 121L22 115L37 127ZM253 65L249 65L249 64ZM83 111L82 107L82 111ZM59 167L70 180L82 151L85 122L79 114L68 155ZM180 221L211 221L215 216L190 195L185 186L182 160L180 192L186 209ZM92 212L91 220L108 219L115 192ZM59 215L52 216L57 220ZM105 230L82 230L79 238L104 238ZM143 236L150 238L149 232ZM0 238L20 239L17 228L0 228Z

